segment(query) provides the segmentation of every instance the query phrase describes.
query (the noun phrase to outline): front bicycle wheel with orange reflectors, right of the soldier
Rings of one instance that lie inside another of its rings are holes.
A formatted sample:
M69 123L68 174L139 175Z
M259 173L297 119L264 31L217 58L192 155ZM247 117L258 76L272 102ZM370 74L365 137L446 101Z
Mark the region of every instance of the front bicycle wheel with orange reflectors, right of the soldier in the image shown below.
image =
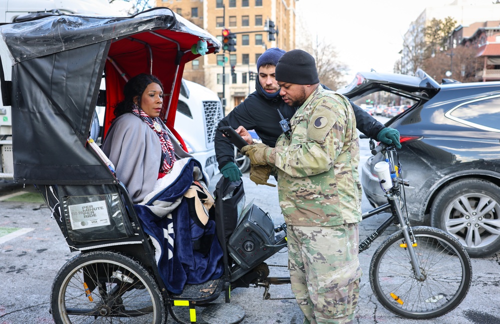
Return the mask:
M436 228L412 228L413 247L423 280L415 276L403 233L389 236L375 251L370 284L378 302L408 319L442 316L465 298L470 286L470 258L453 237Z

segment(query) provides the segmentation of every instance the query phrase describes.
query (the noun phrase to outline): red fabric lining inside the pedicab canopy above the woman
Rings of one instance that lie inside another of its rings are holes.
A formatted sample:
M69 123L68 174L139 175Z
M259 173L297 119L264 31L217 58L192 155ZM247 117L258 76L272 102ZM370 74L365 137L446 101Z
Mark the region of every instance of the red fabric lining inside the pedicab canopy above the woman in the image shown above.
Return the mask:
M197 36L189 33L161 29L113 41L105 64L103 134L114 119L114 105L123 99L126 81L139 73L151 73L163 83L165 97L161 116L185 149L182 138L174 130L175 111L184 65L199 56L191 53L191 46L198 40ZM208 52L213 52L213 47Z

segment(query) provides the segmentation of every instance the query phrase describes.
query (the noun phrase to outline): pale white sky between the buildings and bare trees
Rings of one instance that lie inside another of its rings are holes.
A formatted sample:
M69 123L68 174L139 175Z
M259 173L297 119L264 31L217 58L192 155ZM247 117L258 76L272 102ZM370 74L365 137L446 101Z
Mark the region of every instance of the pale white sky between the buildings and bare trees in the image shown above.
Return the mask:
M427 6L452 0L299 0L296 12L319 40L333 44L349 68L350 82L357 71L393 71L400 57L404 33Z

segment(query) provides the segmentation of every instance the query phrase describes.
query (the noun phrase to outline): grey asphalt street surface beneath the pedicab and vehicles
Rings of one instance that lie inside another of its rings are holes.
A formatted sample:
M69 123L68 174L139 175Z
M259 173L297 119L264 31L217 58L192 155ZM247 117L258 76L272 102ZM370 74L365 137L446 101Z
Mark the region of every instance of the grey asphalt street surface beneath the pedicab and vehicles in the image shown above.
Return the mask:
M361 159L367 158L367 140L361 140ZM210 185L214 187L216 178ZM246 200L268 212L275 224L282 222L277 205L277 190L268 186L256 186L244 174ZM273 181L273 180L271 180ZM0 183L0 228L25 229L18 237L1 241L0 237L0 324L49 324L53 323L49 309L52 280L60 267L70 259L70 253L62 234L50 217L50 210L40 203L2 201L6 194L19 190L31 190L11 183ZM363 198L363 211L371 209ZM385 215L377 215L360 225L361 238L366 237ZM384 237L395 228L389 228ZM473 280L469 293L458 308L433 320L401 319L385 310L374 298L368 269L378 238L372 247L360 254L363 270L361 292L356 309L358 324L494 324L500 323L500 254L473 259ZM270 265L286 265L286 250L268 260ZM286 276L284 267L271 267L271 275ZM231 292L231 303L245 312L243 324L300 324L301 313L292 297L289 285L273 286L273 300L262 300L262 288L235 289ZM199 320L199 316L198 316ZM113 322L114 323L114 322ZM170 317L168 324L175 323Z

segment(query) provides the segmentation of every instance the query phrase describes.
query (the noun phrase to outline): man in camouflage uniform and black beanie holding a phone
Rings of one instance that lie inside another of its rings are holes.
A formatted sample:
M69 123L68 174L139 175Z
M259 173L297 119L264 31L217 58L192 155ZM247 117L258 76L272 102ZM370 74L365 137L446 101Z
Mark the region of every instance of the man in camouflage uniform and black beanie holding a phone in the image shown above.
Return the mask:
M248 145L253 165L278 173L281 211L288 226L293 293L304 323L351 323L359 295L359 146L347 99L319 85L314 58L294 49L276 65L280 95L299 106L271 148Z

